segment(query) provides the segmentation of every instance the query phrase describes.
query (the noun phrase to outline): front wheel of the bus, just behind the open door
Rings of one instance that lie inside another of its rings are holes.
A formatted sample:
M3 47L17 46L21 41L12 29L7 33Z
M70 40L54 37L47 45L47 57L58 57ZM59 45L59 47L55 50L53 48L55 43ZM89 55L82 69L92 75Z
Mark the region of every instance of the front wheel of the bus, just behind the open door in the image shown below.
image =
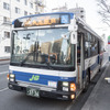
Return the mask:
M85 79L85 84L84 84L82 92L86 92L88 90L89 84L90 84L90 70L88 69L86 79Z

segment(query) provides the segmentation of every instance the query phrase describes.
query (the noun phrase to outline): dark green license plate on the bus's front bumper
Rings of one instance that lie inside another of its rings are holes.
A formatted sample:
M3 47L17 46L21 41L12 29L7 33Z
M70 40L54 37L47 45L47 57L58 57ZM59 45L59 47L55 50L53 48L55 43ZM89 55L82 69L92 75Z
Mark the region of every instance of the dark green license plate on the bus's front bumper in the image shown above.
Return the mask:
M40 90L34 88L26 88L26 95L40 98Z

